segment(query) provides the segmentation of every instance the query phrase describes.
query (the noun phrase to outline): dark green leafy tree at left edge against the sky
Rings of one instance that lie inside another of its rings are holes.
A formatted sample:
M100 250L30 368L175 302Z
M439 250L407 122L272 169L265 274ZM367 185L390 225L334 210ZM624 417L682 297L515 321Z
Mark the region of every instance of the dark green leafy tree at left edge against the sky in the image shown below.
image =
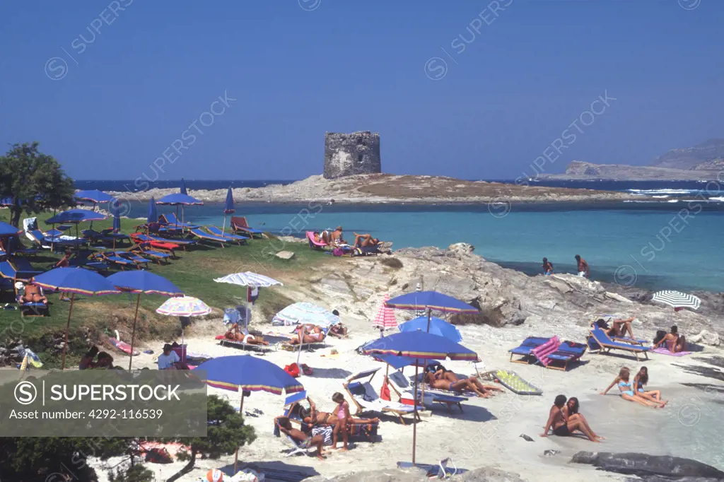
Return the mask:
M17 227L23 211L40 213L75 206L73 179L37 142L13 144L0 157L0 198L10 198L10 224Z

